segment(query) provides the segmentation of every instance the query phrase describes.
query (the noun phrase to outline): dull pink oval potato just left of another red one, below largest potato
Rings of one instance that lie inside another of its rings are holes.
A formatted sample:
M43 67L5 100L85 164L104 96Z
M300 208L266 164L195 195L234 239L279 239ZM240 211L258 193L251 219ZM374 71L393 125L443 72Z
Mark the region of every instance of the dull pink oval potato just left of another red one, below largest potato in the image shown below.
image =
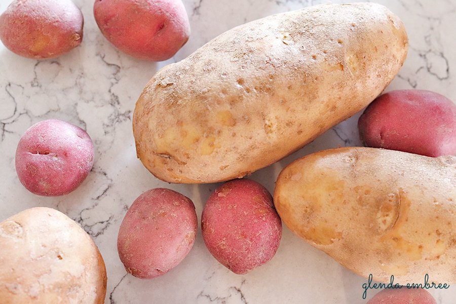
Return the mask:
M166 274L195 243L195 205L171 189L155 188L128 209L117 238L119 257L128 273L141 279Z

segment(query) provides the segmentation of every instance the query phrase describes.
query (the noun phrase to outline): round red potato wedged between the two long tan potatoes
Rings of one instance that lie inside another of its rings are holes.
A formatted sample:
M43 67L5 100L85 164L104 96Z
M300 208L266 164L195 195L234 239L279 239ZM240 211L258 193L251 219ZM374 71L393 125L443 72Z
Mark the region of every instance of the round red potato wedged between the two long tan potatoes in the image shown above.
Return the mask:
M259 183L238 179L209 197L201 219L209 252L236 274L245 274L275 255L282 221L271 194Z

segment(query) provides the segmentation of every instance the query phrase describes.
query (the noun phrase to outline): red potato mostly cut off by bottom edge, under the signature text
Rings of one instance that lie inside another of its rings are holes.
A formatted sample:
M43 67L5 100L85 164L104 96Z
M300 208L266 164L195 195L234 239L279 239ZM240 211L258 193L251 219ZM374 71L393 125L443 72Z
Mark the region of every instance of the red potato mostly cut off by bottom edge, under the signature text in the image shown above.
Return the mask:
M383 289L371 298L367 304L437 304L433 296L424 289L402 287L401 289Z

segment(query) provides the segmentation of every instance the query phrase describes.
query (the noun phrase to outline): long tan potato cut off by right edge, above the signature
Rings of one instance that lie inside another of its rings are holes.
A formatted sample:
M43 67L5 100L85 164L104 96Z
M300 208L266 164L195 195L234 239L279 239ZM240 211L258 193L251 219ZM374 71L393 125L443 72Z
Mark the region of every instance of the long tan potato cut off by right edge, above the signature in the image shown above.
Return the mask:
M361 276L456 282L456 157L320 151L283 169L274 203L291 231Z

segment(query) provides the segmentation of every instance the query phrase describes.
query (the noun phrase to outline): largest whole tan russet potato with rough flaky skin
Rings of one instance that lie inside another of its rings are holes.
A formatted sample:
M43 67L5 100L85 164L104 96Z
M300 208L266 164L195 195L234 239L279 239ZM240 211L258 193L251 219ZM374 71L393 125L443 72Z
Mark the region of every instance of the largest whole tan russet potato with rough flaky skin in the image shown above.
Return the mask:
M365 107L407 48L398 17L370 3L238 26L150 80L133 115L137 156L168 182L243 177Z

